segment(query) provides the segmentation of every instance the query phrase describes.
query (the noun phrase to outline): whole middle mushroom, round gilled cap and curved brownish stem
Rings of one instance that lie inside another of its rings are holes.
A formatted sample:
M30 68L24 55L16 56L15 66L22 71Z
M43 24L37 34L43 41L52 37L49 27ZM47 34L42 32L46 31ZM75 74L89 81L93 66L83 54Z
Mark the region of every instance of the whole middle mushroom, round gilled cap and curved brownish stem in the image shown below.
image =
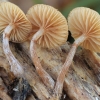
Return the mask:
M68 37L68 25L65 17L55 8L37 4L31 7L27 18L32 23L30 53L36 71L44 84L54 88L54 80L43 69L36 53L36 44L44 48L56 48L64 44Z

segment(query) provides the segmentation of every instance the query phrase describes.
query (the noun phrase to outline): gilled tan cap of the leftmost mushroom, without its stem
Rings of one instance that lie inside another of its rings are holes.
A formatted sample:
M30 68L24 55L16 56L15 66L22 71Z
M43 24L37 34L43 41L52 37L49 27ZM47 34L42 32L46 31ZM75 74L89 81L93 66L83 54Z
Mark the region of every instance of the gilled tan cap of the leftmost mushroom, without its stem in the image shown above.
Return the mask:
M23 11L13 3L2 2L0 4L0 31L9 24L14 27L10 33L10 41L23 42L28 39L32 25Z

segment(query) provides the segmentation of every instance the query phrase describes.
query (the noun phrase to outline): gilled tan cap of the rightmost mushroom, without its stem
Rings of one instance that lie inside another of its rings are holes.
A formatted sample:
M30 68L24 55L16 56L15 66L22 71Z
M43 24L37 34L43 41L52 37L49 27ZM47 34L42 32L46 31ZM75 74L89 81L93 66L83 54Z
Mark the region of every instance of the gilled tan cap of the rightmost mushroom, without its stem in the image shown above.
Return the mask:
M82 47L100 52L100 15L96 11L77 7L70 12L68 25L75 39L85 34L86 40L81 44Z

